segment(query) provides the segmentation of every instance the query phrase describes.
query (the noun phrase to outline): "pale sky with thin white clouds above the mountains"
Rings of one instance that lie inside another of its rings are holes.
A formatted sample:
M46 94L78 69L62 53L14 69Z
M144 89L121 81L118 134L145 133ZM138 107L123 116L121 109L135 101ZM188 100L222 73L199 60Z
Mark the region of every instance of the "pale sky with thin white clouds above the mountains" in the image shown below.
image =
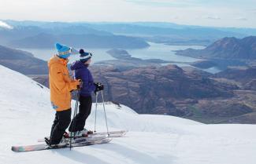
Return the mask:
M256 0L0 0L0 20L256 27Z

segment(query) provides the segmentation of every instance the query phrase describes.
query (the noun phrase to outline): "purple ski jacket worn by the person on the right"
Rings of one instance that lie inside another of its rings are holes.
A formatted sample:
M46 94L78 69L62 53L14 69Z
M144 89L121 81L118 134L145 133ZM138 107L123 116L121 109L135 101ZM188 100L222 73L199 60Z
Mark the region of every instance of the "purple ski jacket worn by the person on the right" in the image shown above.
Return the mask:
M80 90L80 95L83 97L91 96L91 92L95 91L94 80L91 75L91 71L88 70L88 66L77 60L72 63L70 68L75 70L75 78L83 81L83 87Z

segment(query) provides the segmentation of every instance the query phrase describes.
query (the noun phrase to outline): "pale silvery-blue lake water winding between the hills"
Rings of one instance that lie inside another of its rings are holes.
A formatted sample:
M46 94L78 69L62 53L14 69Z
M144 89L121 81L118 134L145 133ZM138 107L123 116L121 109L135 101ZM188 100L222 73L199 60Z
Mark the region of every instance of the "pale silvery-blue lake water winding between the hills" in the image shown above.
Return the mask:
M205 46L169 46L161 43L148 42L150 47L145 49L125 49L132 55L132 57L137 57L140 59L161 59L168 60L170 62L195 62L199 59L189 57L189 56L178 56L175 55L175 50L183 50L183 49L204 49ZM86 49L83 48L87 52L93 53L92 62L98 62L102 60L115 60L113 56L110 56L106 51L109 49ZM22 49L24 51L28 51L32 53L35 57L42 60L49 60L51 56L54 56L56 53L56 49ZM79 50L79 49L77 49ZM72 63L75 60L79 59L79 54L72 55L70 57L69 63ZM179 64L175 63L180 67L190 66L189 64ZM208 69L211 73L216 73L217 69Z

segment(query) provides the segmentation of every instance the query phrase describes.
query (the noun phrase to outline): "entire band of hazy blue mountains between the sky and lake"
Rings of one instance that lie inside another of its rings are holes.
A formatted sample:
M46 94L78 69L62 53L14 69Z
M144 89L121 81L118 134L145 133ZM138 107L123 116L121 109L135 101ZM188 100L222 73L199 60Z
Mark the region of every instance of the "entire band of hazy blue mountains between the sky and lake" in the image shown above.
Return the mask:
M198 27L170 23L65 23L4 20L12 29L0 27L0 44L22 48L51 48L56 39L88 48L137 49L147 42L167 45L203 45L224 37L242 38L255 29ZM145 42L147 41L147 42Z

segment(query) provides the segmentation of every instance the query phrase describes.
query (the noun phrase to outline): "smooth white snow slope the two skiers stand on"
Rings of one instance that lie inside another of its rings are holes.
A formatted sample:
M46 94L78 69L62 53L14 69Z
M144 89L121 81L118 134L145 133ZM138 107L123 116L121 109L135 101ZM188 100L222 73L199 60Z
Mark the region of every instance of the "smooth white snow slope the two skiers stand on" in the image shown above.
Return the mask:
M107 103L109 129L128 129L109 144L17 153L12 145L37 144L54 119L49 89L0 65L0 164L255 164L256 126L205 125L166 115L139 115ZM75 102L72 102L74 107ZM102 104L97 129L106 130ZM95 104L87 120L94 129Z

